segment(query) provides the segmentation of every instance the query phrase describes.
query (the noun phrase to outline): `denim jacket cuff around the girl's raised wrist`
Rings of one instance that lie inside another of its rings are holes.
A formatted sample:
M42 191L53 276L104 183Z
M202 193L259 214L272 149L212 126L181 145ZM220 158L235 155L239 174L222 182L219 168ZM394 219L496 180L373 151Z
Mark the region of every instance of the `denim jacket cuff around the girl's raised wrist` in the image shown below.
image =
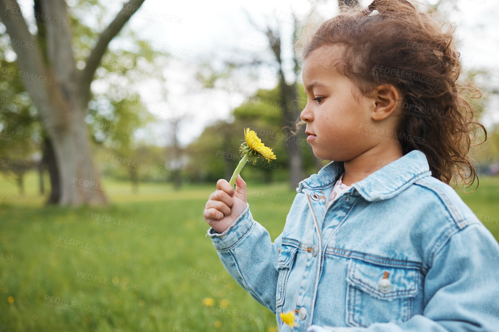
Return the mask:
M253 217L250 212L250 203L246 203L246 209L223 233L217 233L213 227L208 229L207 235L212 239L217 250L228 249L235 245L253 225Z

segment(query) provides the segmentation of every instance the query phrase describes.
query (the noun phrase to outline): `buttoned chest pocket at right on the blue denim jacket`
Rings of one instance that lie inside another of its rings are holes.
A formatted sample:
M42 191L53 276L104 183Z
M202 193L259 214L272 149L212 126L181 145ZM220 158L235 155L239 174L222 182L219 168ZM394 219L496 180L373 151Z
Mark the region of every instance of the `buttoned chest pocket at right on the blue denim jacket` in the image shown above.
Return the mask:
M346 324L402 324L413 316L413 298L420 288L416 269L382 266L350 259L347 272Z

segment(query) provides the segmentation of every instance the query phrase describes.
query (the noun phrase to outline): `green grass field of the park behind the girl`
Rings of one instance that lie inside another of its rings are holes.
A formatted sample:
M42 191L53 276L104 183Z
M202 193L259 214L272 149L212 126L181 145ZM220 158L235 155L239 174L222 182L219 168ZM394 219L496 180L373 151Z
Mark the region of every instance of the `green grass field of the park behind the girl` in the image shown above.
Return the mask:
M234 282L205 237L215 184L179 192L141 184L138 199L73 210L43 207L37 181L26 177L27 203L0 201L0 331L277 331L275 316ZM280 197L249 200L275 239L296 192L283 183L248 188ZM0 178L3 191L17 188ZM499 217L499 178L461 196L498 239L499 221L490 218Z

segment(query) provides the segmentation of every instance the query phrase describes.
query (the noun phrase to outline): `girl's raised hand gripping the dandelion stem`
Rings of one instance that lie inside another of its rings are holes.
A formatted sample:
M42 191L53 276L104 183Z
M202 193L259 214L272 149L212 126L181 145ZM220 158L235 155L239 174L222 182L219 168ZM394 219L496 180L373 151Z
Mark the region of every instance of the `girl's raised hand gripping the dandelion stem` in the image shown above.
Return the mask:
M203 216L217 233L223 233L246 209L246 182L236 179L236 191L225 179L217 181L217 190L210 195Z

